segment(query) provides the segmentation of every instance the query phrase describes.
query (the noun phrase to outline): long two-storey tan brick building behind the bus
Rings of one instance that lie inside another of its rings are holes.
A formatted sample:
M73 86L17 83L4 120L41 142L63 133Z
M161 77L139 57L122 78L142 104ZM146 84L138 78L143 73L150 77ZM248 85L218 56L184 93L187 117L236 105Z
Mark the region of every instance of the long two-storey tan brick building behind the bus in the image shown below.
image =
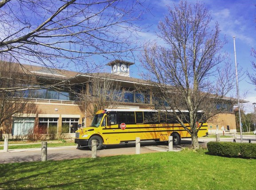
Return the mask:
M130 66L134 63L128 61L111 61L111 73L78 73L53 68L43 68L34 65L23 65L28 75L33 74L37 80L62 81L68 80L74 83L71 87L74 91L84 89L90 94L91 78L107 78L118 81L122 86L123 98L118 102L119 108L146 109L154 108L152 92L139 92L135 87L146 86L145 80L130 77ZM26 138L30 129L43 129L43 133L64 133L66 137L75 137L78 124L90 125L91 118L86 117L87 110L83 108L74 91L62 87L56 91L51 87L37 89L35 96L29 97L28 103L35 107L34 110L25 110L12 116L9 125L2 126L3 136L9 138ZM138 101L138 99L140 101ZM234 102L230 101L230 104ZM209 122L209 133L215 133L216 129L228 132L236 131L235 115L232 110L218 114Z

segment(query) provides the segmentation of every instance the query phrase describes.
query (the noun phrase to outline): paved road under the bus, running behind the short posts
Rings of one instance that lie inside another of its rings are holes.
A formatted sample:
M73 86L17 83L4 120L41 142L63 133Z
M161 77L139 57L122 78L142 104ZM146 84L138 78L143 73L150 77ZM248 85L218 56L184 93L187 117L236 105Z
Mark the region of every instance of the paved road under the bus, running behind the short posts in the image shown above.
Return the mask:
M238 136L237 136L238 137ZM248 142L251 139L252 143L256 143L256 138L253 135L247 135L243 137L244 142ZM201 145L205 145L206 142L216 141L215 138L199 138ZM233 137L221 138L221 141L233 141ZM236 142L240 142L240 138L236 139ZM191 139L185 139L181 141L181 145L173 146L173 151L180 151L184 147L191 147ZM142 142L141 153L150 152L166 152L168 151L167 144L157 144L156 142ZM118 144L107 146L105 149L97 151L97 156L116 156L116 155L128 155L135 154L135 144ZM77 149L76 146L48 148L47 160L66 160L75 158L90 158L91 151L89 149ZM15 162L30 162L41 160L41 148L28 148L28 149L16 149L9 150L4 153L0 150L0 163L15 163Z

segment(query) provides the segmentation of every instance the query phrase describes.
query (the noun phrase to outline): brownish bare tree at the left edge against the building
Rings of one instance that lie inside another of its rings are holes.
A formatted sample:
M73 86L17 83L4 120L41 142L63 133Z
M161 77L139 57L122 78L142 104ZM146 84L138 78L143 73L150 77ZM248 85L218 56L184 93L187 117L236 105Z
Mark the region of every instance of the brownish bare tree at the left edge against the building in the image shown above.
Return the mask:
M6 57L2 57L5 61L0 61L0 87L19 87L26 86L28 83L19 83L13 78L20 78L23 81L28 79L17 64ZM32 81L29 79L28 81ZM36 106L31 99L28 99L32 91L19 92L2 92L0 93L0 128L4 129L5 133L12 133L12 117L20 117L22 113L33 113Z

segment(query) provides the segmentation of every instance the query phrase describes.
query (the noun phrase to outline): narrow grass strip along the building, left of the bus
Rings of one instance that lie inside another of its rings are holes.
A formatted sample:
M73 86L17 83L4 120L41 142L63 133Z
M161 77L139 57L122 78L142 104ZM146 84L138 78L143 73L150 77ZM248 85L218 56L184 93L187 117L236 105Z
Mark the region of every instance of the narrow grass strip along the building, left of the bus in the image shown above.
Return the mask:
M71 146L76 145L74 142L57 142L57 143L47 143L48 147L58 147L58 146ZM8 149L22 149L22 148L40 148L41 144L24 144L24 145L10 145L8 146ZM0 146L0 150L3 150L4 146Z

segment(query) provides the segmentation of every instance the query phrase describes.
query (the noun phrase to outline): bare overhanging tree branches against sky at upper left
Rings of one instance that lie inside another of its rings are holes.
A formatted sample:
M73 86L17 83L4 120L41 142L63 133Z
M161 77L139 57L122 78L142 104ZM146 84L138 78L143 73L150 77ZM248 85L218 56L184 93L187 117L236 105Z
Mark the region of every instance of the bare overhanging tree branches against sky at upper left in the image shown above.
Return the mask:
M94 60L133 57L145 10L137 0L0 0L0 54L89 72Z

